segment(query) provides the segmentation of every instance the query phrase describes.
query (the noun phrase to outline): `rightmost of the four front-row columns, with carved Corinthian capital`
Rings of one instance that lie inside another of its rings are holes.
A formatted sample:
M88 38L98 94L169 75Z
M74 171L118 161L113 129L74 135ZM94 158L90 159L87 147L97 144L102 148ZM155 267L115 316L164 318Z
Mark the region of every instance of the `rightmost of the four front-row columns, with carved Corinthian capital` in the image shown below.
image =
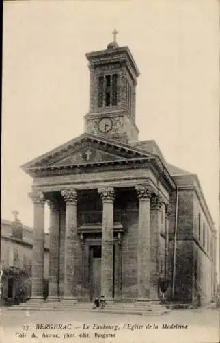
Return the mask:
M137 240L137 300L150 296L150 197L152 187L135 187L139 198L139 224Z

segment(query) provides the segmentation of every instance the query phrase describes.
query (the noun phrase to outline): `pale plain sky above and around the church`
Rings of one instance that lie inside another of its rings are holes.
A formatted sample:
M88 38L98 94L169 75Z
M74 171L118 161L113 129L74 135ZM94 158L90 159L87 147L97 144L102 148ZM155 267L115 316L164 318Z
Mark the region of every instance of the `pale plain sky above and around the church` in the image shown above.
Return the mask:
M118 30L141 73L139 139L199 176L219 229L217 0L5 1L1 217L33 226L20 165L77 137L89 109L85 53ZM46 227L49 225L46 209Z

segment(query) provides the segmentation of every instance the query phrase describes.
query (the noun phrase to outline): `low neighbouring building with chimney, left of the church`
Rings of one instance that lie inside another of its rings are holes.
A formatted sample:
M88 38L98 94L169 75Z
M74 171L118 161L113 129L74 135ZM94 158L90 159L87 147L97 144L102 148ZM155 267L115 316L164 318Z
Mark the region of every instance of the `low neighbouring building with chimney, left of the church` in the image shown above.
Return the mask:
M1 220L1 299L14 302L31 296L33 230L17 216ZM44 233L44 281L49 278L49 235Z

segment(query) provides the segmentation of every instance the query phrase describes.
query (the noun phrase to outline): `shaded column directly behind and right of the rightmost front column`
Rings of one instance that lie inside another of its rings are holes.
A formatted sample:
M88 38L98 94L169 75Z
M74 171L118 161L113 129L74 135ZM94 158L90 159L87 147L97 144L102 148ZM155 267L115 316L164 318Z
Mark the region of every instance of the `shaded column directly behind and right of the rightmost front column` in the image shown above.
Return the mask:
M161 231L161 197L154 194L150 202L150 298L152 300L159 299L159 265L161 262L159 236Z

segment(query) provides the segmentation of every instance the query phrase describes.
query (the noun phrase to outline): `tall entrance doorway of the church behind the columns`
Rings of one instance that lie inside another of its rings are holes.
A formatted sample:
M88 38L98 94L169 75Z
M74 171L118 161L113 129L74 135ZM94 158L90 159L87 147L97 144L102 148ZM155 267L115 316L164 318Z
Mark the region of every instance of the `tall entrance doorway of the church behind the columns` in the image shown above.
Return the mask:
M101 295L102 247L90 246L90 299Z

